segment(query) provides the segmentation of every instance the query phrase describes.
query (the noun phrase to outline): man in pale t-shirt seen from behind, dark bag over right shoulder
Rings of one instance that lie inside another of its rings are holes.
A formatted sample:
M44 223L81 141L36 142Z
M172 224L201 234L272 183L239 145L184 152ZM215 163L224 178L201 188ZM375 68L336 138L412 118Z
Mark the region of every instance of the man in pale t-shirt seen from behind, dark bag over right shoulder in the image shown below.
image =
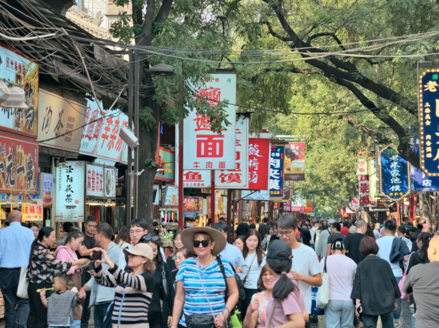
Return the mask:
M385 261L388 261L390 264L390 268L392 268L393 275L396 279L396 282L399 283L401 278L403 277L403 269L400 266L400 261L391 261L392 258L392 248L399 248L396 246L399 243L401 244L401 257L403 261L407 262L409 260L409 249L407 248L407 245L405 242L403 242L401 239L395 237L396 232L396 222L394 220L387 220L384 222L384 236L377 239L377 244L379 246L378 250L378 256L381 257L381 259L385 259ZM396 239L396 240L394 240ZM394 253L394 252L393 252ZM396 328L401 327L403 321L400 318L401 316L401 298L398 298L398 307L396 308L396 311L394 311L394 325Z

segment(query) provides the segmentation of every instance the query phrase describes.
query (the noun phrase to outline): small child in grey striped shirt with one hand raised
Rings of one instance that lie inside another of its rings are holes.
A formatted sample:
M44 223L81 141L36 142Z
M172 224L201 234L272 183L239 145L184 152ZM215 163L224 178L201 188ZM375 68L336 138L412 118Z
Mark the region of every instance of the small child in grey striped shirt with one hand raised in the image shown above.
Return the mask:
M47 307L47 324L50 327L70 327L73 321L73 307L76 293L67 289L69 277L64 272L54 275L54 292L46 298L46 290L40 291L41 302Z

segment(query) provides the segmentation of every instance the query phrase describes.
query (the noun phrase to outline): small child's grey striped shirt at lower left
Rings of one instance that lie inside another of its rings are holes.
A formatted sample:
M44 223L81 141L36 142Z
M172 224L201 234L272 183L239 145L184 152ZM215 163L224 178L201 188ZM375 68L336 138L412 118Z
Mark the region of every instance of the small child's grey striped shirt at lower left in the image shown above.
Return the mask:
M76 301L76 294L71 290L59 294L53 292L47 298L47 325L70 327Z

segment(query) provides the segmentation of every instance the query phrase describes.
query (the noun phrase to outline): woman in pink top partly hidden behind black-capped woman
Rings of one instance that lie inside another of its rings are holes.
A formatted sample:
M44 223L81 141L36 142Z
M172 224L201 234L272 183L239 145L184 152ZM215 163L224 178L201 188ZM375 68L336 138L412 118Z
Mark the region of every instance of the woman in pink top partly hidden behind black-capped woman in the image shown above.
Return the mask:
M258 289L261 292L254 294L250 305L248 305L244 328L264 328L267 318L268 301L272 297L273 290L273 271L268 264L262 267L259 275Z

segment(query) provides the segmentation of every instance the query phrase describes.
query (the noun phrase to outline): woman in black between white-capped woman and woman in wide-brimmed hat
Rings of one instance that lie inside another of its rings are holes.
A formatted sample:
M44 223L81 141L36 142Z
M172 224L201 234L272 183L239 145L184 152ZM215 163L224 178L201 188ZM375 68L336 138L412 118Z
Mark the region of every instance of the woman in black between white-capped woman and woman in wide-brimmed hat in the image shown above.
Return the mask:
M152 273L154 289L148 314L150 328L167 327L171 320L170 313L174 301L171 273L161 254L159 237L144 236L141 242L145 242L152 249L152 260L156 265L156 270Z

